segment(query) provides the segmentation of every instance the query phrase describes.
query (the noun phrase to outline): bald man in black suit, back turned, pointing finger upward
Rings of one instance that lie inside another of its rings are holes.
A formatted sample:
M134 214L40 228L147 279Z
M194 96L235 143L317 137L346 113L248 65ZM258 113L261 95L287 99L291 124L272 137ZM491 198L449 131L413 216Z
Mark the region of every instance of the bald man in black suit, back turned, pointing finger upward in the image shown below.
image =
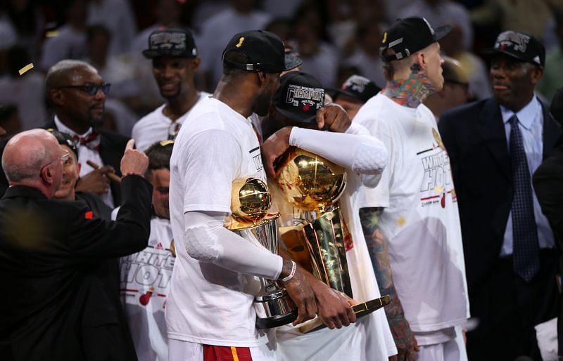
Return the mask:
M2 360L137 360L119 301L108 291L108 258L148 242L148 159L127 144L123 203L115 222L82 202L52 199L68 157L42 129L8 141L2 166L10 188L0 200ZM8 292L9 289L9 292Z

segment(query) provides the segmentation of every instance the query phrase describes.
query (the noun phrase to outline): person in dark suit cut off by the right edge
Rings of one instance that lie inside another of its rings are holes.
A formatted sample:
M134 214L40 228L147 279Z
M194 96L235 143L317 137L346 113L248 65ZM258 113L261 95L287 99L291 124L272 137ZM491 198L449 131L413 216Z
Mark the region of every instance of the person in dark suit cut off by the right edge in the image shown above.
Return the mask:
M555 92L551 100L552 116L563 124L563 88ZM563 246L563 138L557 141L555 152L545 159L533 173L533 189L538 195L541 210L553 228L559 249ZM559 259L559 267L563 265L563 258ZM563 303L559 300L559 318L557 320L557 343L559 356L563 356Z

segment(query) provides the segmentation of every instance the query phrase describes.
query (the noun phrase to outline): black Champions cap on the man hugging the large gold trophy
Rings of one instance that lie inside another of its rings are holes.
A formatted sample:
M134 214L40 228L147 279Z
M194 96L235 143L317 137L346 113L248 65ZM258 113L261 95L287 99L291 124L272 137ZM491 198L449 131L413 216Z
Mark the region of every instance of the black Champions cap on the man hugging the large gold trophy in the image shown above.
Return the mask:
M273 104L285 117L304 124L316 124L317 110L324 105L324 88L304 72L289 72L280 79Z

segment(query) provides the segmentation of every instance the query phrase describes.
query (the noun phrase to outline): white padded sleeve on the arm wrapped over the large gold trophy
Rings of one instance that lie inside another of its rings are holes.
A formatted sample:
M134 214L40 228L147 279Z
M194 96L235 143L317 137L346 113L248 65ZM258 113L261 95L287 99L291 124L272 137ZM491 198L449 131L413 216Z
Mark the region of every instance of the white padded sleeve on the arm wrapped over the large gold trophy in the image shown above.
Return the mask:
M360 174L379 174L387 162L387 149L369 135L332 133L293 127L289 145L329 159Z

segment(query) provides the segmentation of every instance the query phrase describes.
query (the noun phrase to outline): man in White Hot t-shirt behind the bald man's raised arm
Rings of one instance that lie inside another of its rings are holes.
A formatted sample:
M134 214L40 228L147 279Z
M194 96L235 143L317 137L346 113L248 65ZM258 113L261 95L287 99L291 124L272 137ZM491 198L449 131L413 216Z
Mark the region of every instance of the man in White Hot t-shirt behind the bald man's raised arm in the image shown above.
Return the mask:
M164 310L176 258L168 207L173 144L164 140L145 151L145 178L153 185L151 235L146 249L120 259L122 301L139 361L168 360Z

